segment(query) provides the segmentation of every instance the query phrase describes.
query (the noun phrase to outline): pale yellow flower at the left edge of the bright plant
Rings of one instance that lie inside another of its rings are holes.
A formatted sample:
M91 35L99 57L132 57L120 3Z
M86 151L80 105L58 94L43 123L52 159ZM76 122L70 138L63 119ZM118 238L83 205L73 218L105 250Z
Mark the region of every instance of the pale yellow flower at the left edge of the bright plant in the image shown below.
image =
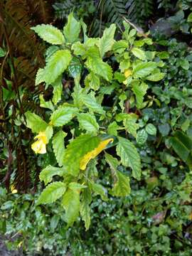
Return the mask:
M45 154L46 144L48 144L46 132L39 132L34 139L37 139L37 141L31 145L31 149L33 149L33 151L35 151L36 154Z

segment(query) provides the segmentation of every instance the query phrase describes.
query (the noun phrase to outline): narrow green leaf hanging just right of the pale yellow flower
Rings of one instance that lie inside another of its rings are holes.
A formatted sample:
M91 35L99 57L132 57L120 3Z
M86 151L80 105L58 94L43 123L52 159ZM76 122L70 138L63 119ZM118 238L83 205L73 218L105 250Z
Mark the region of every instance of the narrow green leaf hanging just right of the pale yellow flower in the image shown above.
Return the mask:
M55 159L57 159L59 166L63 166L63 159L65 156L64 138L66 136L67 134L60 130L54 135L52 140Z

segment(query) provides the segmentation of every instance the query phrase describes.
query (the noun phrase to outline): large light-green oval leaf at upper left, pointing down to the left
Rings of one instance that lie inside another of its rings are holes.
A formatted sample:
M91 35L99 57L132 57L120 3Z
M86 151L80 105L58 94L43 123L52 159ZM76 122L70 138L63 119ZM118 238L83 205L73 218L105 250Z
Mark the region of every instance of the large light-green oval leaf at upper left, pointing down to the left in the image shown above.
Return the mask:
M44 81L50 85L68 68L70 64L71 54L69 50L57 50L50 56L46 67L44 68Z

